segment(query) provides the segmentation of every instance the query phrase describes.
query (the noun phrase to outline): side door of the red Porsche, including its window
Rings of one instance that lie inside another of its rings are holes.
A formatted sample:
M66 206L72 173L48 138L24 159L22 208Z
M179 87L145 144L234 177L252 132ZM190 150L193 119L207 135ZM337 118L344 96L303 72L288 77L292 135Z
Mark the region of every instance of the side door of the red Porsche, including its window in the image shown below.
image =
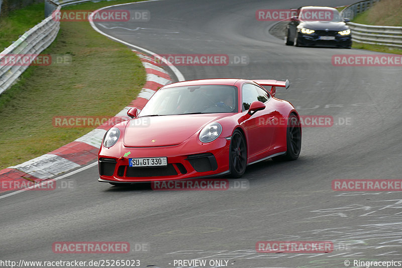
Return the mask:
M246 83L242 86L242 112L246 118L242 124L247 132L249 161L254 161L253 158L258 158L271 146L275 130L272 124L269 124L275 118L268 105L271 99L269 94L257 85ZM266 108L250 116L247 112L255 101L264 103Z

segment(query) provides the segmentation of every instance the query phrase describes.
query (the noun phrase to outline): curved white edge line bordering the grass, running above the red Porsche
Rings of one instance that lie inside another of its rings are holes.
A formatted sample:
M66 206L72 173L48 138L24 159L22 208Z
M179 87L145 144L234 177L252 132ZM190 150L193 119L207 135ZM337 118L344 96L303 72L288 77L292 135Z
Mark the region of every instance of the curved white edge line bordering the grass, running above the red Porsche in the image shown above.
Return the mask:
M101 11L101 10L107 9L107 8L118 7L118 6L123 6L123 5L132 5L132 4L138 4L138 3L145 3L145 2L154 2L154 1L160 1L160 0L149 0L149 1L144 1L144 2L126 3L126 4L120 4L120 5L113 5L113 6L109 6L109 7L104 7L104 8L100 8L100 9L98 9L98 10L95 10L94 12L91 13L91 15L89 15L89 17L92 18L92 17L93 17L93 14L95 14L96 12L99 12L99 11ZM154 58L161 58L161 60L162 60L164 63L166 63L166 65L169 66L169 68L172 70L172 72L176 75L178 81L184 81L184 80L185 80L183 74L176 68L176 66L174 66L173 64L171 64L170 62L168 62L166 59L160 57L158 54L156 54L156 53L154 53L154 52L152 52L152 51L150 51L150 50L148 50L148 49L145 49L145 48L142 48L142 47L139 47L139 46L130 44L130 43L126 42L126 41L123 41L123 40L121 40L121 39L118 39L118 38L116 38L116 37L113 37L113 36L111 36L111 35L108 35L108 34L102 32L102 31L100 31L100 30L96 27L96 25L95 25L95 23L93 22L93 20L89 20L89 23L90 23L90 25L92 26L92 28L93 28L96 32L98 32L99 34L103 34L104 36L106 36L106 37L108 37L108 38L110 38L110 39L112 39L112 40L115 40L115 41L117 41L117 42L120 42L120 43L122 43L122 44L125 44L126 46L139 49L139 50L141 50L141 51L143 51L143 52L145 52L145 53L147 53L147 54L150 54L150 55L154 56Z

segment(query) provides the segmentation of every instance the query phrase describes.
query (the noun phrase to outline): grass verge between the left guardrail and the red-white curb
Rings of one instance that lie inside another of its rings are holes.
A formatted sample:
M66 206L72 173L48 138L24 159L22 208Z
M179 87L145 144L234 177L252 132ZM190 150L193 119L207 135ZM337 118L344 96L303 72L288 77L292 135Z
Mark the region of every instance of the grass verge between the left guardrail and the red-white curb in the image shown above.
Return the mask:
M68 7L95 10L131 1ZM145 83L140 59L126 46L95 32L88 22L61 22L56 40L42 54L66 62L30 66L0 95L0 169L65 145L90 128L56 128L54 116L114 116Z

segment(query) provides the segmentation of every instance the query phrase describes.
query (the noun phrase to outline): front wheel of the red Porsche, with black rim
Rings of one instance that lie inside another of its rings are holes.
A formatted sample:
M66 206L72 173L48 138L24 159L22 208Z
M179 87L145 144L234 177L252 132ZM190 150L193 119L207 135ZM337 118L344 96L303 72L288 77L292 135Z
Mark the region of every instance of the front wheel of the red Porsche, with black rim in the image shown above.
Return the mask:
M246 171L247 147L243 134L239 130L233 132L229 148L229 170L233 177L239 178Z

